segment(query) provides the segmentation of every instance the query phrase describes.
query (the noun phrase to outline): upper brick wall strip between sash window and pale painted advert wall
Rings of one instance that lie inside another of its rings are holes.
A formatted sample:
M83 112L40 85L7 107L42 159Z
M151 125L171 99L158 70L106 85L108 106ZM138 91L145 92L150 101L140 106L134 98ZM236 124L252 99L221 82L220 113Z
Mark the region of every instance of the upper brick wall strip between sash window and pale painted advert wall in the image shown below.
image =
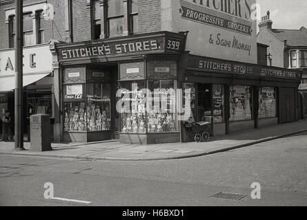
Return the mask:
M139 0L139 32L161 31L161 0Z

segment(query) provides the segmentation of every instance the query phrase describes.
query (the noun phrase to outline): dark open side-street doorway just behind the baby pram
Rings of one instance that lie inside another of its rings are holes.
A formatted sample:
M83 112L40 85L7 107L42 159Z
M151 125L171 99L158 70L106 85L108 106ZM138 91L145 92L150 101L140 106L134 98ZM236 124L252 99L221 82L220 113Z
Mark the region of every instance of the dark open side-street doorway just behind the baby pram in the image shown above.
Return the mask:
M212 85L198 83L198 121L204 116L212 116Z

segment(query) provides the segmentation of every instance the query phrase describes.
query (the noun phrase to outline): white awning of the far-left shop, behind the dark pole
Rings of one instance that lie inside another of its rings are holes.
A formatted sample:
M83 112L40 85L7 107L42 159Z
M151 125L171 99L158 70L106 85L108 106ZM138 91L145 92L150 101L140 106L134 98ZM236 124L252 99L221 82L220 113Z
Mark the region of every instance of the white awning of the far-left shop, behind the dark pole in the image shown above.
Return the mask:
M23 76L23 87L30 85L32 83L41 80L42 78L48 76L48 74L32 74ZM3 91L12 91L15 89L15 77L14 76L4 76L0 77L0 92Z

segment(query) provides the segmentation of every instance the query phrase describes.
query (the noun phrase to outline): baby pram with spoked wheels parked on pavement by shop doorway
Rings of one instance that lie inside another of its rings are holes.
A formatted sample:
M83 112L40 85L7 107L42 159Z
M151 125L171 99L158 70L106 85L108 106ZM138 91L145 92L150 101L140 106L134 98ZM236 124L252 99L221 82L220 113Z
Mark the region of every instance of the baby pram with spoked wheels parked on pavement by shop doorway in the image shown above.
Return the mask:
M184 126L194 136L195 142L208 142L210 140L212 117L204 116L201 122L186 122Z

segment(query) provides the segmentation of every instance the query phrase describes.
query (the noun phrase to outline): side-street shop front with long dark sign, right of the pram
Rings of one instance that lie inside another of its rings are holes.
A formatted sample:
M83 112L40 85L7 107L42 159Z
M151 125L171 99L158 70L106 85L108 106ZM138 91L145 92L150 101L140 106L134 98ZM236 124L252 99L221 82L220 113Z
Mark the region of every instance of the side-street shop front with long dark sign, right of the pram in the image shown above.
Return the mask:
M190 55L183 86L195 91L194 118L211 116L212 135L224 135L297 120L300 80L299 70Z

